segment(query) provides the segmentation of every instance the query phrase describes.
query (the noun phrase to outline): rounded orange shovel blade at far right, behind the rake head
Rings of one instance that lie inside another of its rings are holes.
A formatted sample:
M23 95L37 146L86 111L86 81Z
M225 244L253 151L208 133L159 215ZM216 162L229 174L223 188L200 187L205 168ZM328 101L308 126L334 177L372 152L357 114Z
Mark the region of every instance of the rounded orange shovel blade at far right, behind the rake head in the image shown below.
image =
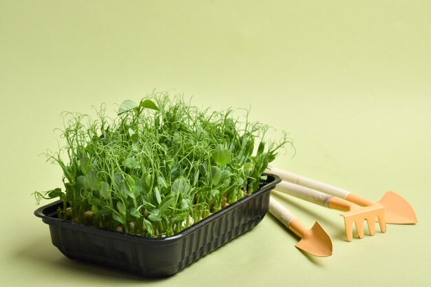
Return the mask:
M379 200L385 207L386 223L390 224L416 224L416 213L410 203L398 193L388 191Z

